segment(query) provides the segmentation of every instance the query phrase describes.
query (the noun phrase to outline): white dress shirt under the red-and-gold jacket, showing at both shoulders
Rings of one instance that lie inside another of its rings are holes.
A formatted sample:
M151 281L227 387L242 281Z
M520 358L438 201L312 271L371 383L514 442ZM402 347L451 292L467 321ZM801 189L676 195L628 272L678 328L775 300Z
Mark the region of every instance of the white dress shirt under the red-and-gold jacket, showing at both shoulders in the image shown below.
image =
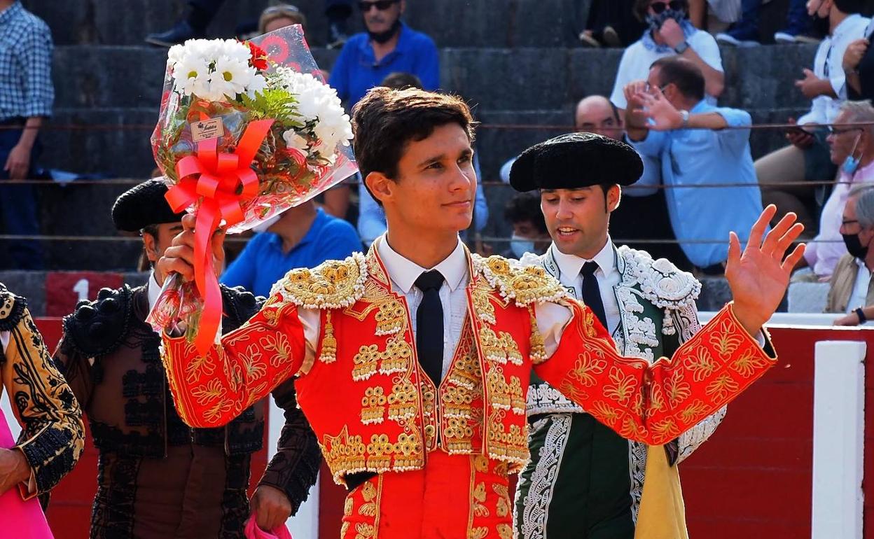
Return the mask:
M392 281L392 291L406 298L413 323L413 339L416 335L416 311L422 301L423 294L413 283L419 279L422 272L436 269L443 274L443 286L440 287L440 302L443 304L443 370L440 377L445 377L452 364L455 349L461 339L461 329L468 314L467 286L470 280L468 258L461 239L454 251L437 266L423 268L412 260L392 249L385 240L385 234L373 242L379 258L382 259L389 280ZM316 346L319 338L321 318L319 309L300 308L298 318L303 325L303 336L306 339L306 356L301 373L309 372L316 357ZM535 306L535 316L538 329L544 337L546 356L549 357L558 349L561 334L571 321L569 308L557 303L539 303ZM446 331L448 329L448 331ZM515 335L517 338L527 338L528 335Z

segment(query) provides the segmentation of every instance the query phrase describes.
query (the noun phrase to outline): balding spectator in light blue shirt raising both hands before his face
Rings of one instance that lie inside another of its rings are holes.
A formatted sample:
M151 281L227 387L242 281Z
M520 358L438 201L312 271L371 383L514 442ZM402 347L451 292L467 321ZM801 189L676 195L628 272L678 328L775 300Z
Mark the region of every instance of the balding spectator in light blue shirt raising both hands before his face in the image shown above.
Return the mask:
M709 104L703 73L683 58L656 60L647 81L626 86L625 98L628 139L641 155L662 159L670 222L683 252L702 273L722 273L728 257L722 238L749 230L762 211L750 114Z

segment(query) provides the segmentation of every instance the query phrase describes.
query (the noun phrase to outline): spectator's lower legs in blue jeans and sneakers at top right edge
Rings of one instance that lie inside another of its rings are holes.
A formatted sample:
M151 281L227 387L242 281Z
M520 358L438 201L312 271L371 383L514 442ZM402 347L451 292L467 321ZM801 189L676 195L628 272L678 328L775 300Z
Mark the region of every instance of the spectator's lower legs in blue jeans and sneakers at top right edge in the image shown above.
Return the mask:
M719 33L716 40L725 45L756 46L759 43L759 11L764 0L743 0L743 14L725 32ZM807 0L789 0L786 14L786 27L773 34L777 43L819 43L820 39L810 34L812 30L808 17Z

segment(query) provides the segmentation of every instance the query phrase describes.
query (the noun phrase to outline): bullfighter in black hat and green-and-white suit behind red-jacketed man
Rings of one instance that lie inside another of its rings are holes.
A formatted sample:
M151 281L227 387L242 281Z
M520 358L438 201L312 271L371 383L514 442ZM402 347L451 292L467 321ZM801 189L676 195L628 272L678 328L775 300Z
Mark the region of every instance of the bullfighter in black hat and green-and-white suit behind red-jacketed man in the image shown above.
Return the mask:
M531 163L547 155L577 174L538 174ZM517 190L539 190L552 238L545 255L527 255L522 262L542 266L592 308L623 354L652 362L700 328L695 300L701 284L667 259L653 260L611 240L621 190L641 172L641 158L628 144L574 133L526 150L510 183ZM676 464L711 436L725 408L665 446L647 446L600 425L532 376L527 414L531 460L519 478L517 537L688 536Z

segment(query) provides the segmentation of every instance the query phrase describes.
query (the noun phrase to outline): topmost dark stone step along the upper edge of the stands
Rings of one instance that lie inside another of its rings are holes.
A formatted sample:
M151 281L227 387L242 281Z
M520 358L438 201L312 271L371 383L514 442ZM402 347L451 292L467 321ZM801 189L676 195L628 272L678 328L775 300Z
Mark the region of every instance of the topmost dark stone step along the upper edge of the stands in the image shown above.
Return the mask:
M309 42L324 45L327 21L323 0L295 0L308 17ZM579 45L589 0L442 0L406 2L404 19L425 31L440 47L552 47ZM184 15L179 0L24 0L27 9L52 28L58 45L141 45L145 35L168 29ZM257 20L265 0L225 2L208 28L209 37L230 38L238 24ZM350 31L363 31L360 14Z

